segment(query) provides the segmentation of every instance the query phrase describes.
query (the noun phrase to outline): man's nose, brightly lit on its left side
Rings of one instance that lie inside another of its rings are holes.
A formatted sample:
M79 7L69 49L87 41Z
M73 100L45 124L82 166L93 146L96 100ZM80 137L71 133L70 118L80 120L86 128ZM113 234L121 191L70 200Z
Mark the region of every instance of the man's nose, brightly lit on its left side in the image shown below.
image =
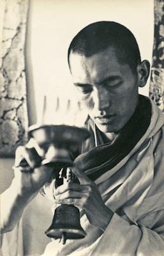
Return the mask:
M110 106L110 95L105 88L98 88L94 91L93 101L94 108L103 111Z

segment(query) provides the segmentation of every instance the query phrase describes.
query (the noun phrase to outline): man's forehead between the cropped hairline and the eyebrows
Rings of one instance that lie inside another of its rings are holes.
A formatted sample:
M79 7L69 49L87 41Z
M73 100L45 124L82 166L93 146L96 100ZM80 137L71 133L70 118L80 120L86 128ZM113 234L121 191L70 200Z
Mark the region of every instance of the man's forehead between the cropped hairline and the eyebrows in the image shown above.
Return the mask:
M127 64L119 63L116 50L112 47L90 57L70 54L73 83L99 83L106 76L125 76Z

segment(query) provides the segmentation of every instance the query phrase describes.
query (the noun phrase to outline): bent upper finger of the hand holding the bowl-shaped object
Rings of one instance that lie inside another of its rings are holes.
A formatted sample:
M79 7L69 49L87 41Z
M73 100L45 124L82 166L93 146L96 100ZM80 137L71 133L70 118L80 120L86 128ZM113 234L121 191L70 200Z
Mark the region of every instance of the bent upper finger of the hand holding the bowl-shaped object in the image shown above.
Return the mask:
M28 165L34 169L40 166L41 157L36 152L35 148L26 148L20 146L17 148L15 153L15 166L22 166L26 168Z

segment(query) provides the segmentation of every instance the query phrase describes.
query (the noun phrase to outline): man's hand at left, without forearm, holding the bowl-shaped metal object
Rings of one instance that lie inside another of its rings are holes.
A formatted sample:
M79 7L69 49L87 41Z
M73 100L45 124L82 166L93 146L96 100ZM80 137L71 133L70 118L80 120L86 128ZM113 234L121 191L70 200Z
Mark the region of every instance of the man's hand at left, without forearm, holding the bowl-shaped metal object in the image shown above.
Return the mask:
M31 196L39 191L52 174L52 167L41 166L38 151L34 140L27 143L26 147L20 146L16 150L14 181L20 196ZM26 163L26 166L22 166L22 163Z

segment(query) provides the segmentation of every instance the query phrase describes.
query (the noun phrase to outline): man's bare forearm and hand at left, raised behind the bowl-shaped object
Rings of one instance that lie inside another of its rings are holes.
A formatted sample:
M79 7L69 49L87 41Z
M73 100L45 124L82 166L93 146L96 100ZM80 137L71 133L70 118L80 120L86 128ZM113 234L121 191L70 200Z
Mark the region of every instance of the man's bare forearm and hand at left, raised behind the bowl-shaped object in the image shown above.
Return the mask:
M52 173L52 168L41 166L34 168L40 156L31 154L33 147L19 147L16 151L15 177L10 188L1 195L1 232L13 230L20 220L24 209L38 194ZM26 159L31 169L19 167L20 161Z

